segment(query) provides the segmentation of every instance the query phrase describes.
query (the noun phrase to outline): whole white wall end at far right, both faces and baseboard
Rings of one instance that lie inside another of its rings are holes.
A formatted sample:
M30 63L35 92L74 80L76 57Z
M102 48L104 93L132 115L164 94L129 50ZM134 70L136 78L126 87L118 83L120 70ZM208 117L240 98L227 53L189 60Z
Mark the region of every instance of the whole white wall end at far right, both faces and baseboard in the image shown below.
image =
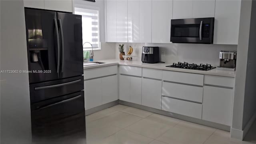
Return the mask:
M256 118L256 1L241 3L231 137L242 139Z

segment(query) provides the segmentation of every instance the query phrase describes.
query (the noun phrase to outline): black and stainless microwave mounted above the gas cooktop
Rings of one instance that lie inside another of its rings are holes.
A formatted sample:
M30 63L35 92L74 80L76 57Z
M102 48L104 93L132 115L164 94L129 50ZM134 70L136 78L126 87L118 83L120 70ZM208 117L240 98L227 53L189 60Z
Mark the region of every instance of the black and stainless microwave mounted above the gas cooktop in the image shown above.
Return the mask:
M172 43L212 44L214 18L187 18L171 20Z

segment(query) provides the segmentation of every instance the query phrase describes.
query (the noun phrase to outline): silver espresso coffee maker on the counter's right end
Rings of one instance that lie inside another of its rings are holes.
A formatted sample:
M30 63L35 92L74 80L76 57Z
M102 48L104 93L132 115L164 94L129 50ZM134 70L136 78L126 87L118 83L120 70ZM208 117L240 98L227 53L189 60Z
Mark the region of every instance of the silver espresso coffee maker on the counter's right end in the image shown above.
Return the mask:
M218 70L236 70L236 51L220 51L220 66Z

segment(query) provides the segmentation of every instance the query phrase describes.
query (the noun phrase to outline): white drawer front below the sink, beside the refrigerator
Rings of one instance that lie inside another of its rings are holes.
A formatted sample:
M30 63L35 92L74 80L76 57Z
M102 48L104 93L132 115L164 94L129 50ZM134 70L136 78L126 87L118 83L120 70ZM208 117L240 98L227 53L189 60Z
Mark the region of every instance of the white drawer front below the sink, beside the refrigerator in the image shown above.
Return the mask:
M84 80L117 74L117 65L84 70Z

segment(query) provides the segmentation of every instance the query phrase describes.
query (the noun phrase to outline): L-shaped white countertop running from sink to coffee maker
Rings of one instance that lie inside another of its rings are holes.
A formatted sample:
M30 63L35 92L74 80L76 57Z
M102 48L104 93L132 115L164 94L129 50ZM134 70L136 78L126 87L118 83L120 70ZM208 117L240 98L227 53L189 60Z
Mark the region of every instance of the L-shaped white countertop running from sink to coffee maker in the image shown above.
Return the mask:
M212 70L190 70L190 69L184 69L184 68L170 68L166 67L169 65L172 65L172 63L156 63L156 64L147 64L142 63L141 61L124 61L124 60L116 60L116 59L110 59L110 60L97 60L96 62L104 62L104 64L96 64L96 65L90 65L90 66L84 66L84 69L90 69L90 68L98 68L103 66L112 66L112 65L126 65L126 66L138 66L142 68L154 68L159 70L170 70L170 71L176 71L176 72L188 72L188 73L194 73L194 74L208 74L208 75L215 75L215 76L227 76L227 77L235 77L236 72L233 71L227 71L227 70L217 70L216 68Z

